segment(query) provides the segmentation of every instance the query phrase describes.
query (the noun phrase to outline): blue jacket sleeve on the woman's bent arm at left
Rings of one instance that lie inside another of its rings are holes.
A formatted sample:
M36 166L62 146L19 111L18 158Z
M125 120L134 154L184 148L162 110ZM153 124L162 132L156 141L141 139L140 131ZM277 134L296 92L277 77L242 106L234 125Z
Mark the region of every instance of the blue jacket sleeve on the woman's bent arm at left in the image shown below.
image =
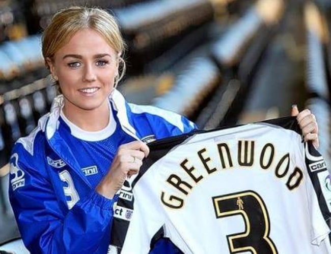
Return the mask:
M21 144L10 158L9 197L25 246L32 253L105 253L107 244L100 243L109 242L116 198L92 191L69 210L59 202L42 161Z

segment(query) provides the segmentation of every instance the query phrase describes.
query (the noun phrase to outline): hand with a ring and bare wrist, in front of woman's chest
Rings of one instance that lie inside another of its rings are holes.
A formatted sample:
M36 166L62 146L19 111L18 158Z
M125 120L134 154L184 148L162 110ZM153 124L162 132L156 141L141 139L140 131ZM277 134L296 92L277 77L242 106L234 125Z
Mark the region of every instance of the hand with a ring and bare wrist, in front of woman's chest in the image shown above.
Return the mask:
M96 191L112 199L123 186L127 177L139 173L143 158L149 154L148 146L142 141L133 141L119 147L108 173L99 183Z

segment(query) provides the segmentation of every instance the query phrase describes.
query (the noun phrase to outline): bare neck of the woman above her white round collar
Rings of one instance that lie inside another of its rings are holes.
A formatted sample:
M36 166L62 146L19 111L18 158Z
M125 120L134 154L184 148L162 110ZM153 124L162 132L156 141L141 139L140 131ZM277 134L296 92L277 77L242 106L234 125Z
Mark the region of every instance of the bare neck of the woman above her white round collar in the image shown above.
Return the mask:
M63 113L73 124L88 132L96 132L106 128L109 123L109 104L105 102L97 109L85 110L66 102Z

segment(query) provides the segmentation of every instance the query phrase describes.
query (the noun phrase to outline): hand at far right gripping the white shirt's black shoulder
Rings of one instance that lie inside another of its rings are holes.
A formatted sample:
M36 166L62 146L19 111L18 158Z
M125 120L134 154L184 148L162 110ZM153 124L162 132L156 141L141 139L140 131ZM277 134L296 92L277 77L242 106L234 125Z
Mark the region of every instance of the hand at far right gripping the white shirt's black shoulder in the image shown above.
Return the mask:
M315 148L318 148L318 124L315 115L309 109L299 112L296 105L292 106L291 115L296 116L305 141L311 140Z

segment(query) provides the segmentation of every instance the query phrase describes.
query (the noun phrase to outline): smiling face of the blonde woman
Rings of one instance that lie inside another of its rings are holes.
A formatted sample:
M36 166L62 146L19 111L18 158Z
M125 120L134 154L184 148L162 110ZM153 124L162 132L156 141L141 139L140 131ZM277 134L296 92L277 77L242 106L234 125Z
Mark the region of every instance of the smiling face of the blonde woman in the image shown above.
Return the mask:
M117 53L97 31L90 28L78 31L54 54L52 61L48 60L65 98L65 111L108 107L117 62Z

